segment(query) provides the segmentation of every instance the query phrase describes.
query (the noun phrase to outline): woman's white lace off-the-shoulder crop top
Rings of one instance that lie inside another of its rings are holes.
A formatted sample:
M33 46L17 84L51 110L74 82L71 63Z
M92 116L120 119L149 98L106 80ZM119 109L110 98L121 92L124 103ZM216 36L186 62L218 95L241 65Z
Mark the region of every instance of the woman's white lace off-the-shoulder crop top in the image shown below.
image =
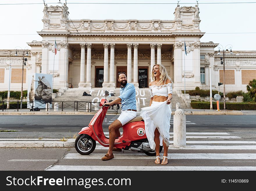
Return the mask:
M149 88L150 88L150 97L154 97L155 95L168 97L168 94L173 94L172 83L168 83L164 85L151 85Z

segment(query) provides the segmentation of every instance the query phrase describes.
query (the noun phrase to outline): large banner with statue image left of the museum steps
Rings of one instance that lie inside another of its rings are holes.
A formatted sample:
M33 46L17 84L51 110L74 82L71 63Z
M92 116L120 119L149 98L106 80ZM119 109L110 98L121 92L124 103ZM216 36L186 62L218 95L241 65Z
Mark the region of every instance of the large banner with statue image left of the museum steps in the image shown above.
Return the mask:
M28 108L45 108L46 103L52 101L52 75L51 74L28 74Z

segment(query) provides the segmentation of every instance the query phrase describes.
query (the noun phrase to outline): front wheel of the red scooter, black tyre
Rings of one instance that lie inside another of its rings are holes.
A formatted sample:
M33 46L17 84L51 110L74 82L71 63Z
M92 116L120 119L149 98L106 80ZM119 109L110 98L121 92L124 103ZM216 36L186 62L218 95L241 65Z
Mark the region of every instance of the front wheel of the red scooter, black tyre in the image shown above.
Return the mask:
M75 148L81 155L89 155L95 147L96 141L87 134L81 134L75 140Z

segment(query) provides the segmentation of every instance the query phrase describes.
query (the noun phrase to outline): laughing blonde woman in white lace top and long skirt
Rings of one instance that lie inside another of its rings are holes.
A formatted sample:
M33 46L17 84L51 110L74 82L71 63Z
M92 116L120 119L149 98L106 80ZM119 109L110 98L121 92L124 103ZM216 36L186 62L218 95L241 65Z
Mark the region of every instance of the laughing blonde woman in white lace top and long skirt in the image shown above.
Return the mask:
M153 81L150 82L150 107L141 109L141 117L145 122L145 133L151 149L156 150L156 164L160 164L160 145L163 145L164 153L161 165L168 163L168 146L172 96L172 80L168 76L166 68L161 64L155 64L151 73Z

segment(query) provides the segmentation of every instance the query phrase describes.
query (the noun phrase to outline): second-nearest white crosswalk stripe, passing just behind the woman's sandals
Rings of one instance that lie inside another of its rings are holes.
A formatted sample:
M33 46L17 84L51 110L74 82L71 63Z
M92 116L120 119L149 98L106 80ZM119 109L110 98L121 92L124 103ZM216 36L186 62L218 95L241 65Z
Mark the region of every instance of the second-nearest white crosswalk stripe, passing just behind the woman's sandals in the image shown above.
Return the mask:
M64 159L101 159L104 154L92 153L81 155L79 153L68 153ZM145 154L114 153L113 159L155 159L155 156ZM256 159L256 153L169 153L168 159Z

